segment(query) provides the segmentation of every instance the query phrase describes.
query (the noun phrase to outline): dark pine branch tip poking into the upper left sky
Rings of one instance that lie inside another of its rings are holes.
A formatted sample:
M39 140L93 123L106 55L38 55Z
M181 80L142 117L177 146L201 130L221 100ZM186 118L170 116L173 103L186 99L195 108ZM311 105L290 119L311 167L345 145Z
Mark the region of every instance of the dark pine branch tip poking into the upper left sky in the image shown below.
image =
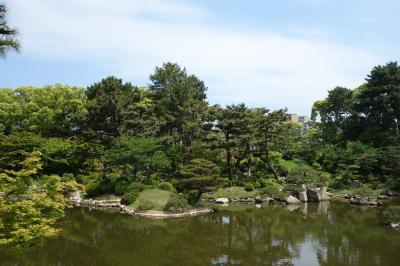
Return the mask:
M20 48L16 39L17 30L8 25L6 15L6 6L0 4L0 57L5 57L9 50L19 51Z

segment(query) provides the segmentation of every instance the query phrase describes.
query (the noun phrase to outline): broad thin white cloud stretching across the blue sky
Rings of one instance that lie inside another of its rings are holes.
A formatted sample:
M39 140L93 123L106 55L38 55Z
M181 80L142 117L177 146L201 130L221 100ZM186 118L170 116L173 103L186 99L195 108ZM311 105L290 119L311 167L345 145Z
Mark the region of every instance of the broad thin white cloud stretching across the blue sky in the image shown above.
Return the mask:
M354 87L381 63L367 51L326 38L214 26L208 22L213 14L171 1L13 0L9 5L24 53L90 62L133 82L162 62L178 62L205 80L212 103L308 112L326 90Z

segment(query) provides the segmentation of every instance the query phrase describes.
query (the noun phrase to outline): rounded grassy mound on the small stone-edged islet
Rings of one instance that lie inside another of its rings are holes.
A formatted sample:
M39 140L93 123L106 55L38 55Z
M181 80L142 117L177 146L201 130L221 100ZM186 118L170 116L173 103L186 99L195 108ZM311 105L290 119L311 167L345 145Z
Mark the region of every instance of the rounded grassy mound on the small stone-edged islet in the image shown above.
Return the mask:
M148 189L140 192L130 207L142 210L163 211L172 193L160 189Z

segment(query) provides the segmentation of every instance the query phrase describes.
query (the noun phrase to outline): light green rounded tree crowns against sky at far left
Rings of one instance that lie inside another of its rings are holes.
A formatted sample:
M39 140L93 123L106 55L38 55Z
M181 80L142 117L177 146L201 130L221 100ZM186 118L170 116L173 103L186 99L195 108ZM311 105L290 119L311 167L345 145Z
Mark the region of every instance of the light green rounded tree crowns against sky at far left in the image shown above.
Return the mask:
M56 84L43 88L0 89L0 130L44 136L72 136L86 119L82 88ZM3 97L4 96L4 97Z

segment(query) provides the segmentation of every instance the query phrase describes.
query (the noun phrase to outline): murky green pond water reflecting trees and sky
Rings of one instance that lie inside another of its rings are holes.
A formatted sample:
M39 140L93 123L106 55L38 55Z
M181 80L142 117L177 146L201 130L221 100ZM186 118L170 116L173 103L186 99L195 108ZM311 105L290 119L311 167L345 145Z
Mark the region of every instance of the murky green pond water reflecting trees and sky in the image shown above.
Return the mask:
M60 237L0 265L400 265L400 232L382 210L346 203L231 205L154 220L104 210L67 211Z

